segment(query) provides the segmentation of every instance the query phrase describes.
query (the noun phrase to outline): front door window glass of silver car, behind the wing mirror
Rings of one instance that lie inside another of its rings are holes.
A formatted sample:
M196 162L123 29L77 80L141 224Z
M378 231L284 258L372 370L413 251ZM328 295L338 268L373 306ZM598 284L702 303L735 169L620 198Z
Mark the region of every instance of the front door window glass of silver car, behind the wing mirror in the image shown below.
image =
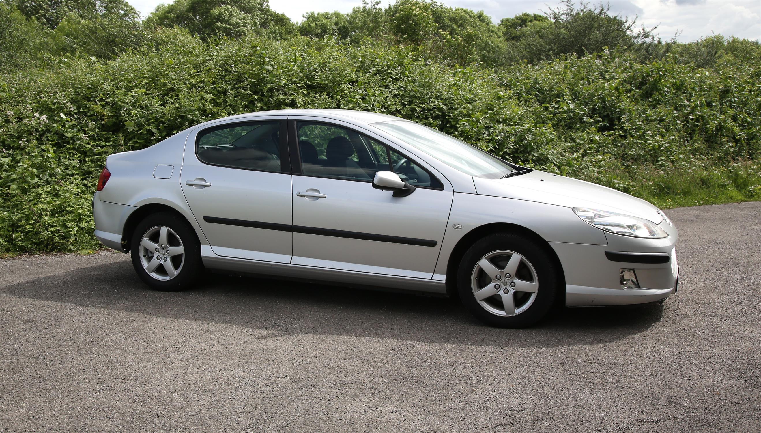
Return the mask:
M378 171L393 171L414 186L443 188L413 161L367 135L327 123L297 122L304 174L371 182Z

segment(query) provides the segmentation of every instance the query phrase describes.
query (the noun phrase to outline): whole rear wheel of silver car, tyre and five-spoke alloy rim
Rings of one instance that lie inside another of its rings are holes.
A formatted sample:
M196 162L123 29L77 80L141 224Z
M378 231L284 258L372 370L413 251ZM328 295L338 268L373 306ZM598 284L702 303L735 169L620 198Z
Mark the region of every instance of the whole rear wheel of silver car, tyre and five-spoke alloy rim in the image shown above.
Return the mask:
M170 212L151 214L140 221L132 234L130 250L135 272L156 290L189 288L202 269L193 228Z

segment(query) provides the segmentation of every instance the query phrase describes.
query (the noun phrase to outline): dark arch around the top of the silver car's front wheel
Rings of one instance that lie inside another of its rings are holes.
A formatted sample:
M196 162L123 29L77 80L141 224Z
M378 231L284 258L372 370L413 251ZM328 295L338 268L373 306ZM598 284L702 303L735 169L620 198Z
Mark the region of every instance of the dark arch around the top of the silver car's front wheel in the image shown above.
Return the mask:
M494 222L483 224L479 227L474 228L473 230L467 232L463 237L461 237L460 240L457 241L457 244L455 244L447 262L447 279L445 282L447 295L452 298L457 298L457 267L460 265L460 261L462 260L468 248L473 246L476 241L488 236L489 234L502 232L522 234L536 241L543 250L546 250L546 253L548 253L552 258L552 261L555 262L559 272L559 279L561 280L562 285L565 286L565 273L563 272L562 263L560 263L560 259L555 253L555 250L550 247L549 243L547 243L543 237L537 234L536 231L525 228L519 224L511 224L509 222ZM559 294L559 302L565 304L565 291L562 291L562 293Z

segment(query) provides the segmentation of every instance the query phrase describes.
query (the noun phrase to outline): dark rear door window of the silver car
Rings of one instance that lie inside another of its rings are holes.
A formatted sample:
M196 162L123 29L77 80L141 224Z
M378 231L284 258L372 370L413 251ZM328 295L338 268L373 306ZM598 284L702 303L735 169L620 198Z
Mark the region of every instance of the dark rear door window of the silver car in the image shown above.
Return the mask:
M205 129L196 141L196 154L206 164L282 171L280 122L235 123Z

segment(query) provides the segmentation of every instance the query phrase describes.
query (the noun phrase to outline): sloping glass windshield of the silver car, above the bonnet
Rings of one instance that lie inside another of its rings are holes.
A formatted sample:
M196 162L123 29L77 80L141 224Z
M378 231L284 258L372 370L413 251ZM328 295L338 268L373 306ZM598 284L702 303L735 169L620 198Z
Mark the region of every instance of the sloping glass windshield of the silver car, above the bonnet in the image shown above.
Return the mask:
M436 129L406 120L373 123L409 145L470 176L499 179L515 170L505 161Z

